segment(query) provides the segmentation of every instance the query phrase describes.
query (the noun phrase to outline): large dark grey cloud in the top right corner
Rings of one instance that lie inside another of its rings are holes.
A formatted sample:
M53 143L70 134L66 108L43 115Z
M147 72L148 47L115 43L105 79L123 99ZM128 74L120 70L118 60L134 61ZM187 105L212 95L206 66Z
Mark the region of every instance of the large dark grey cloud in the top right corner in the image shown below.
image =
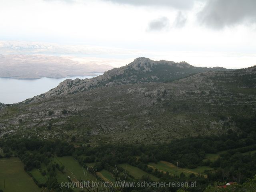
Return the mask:
M210 28L256 23L256 0L208 0L198 20Z

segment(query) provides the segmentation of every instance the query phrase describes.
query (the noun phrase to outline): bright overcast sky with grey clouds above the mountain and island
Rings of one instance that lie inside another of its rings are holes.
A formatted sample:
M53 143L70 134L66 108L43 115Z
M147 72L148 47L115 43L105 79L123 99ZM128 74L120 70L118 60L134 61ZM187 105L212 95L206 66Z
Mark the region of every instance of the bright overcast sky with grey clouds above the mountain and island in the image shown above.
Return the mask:
M0 0L0 54L245 68L256 65L255 10L255 0Z

